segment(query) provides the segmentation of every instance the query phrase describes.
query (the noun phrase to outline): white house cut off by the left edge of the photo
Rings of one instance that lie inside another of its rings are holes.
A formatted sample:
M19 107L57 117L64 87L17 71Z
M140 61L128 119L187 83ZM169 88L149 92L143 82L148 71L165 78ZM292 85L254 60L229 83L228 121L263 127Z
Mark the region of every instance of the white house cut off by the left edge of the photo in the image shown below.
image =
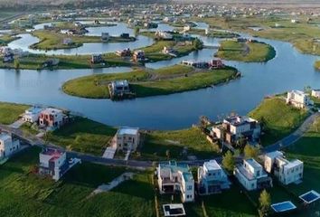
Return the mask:
M0 133L0 159L9 157L20 149L20 141L6 133Z

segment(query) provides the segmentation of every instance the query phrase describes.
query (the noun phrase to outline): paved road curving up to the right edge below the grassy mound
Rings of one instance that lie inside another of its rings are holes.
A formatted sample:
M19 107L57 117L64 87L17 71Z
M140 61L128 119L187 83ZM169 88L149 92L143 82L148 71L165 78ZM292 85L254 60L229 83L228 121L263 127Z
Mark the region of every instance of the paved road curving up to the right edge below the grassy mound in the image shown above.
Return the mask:
M285 148L287 146L291 146L296 143L299 138L303 137L306 131L312 126L312 124L315 122L315 118L319 118L320 113L316 112L306 118L305 122L296 129L295 132L290 134L287 137L284 137L283 139L279 140L277 143L266 146L262 149L262 152L272 152L272 151L277 151L279 149Z

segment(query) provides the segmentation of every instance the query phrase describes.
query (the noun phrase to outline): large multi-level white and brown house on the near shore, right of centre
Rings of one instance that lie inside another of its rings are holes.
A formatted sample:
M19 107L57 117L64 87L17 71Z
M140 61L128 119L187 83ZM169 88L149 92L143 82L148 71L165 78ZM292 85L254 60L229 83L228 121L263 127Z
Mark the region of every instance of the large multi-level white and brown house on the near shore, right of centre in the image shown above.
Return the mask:
M241 137L250 142L257 142L261 135L259 122L253 118L231 116L225 118L221 125L212 127L212 137L224 139L229 144L236 143Z

